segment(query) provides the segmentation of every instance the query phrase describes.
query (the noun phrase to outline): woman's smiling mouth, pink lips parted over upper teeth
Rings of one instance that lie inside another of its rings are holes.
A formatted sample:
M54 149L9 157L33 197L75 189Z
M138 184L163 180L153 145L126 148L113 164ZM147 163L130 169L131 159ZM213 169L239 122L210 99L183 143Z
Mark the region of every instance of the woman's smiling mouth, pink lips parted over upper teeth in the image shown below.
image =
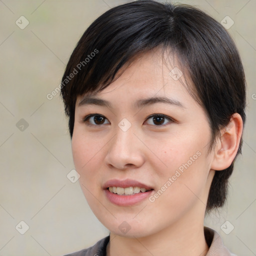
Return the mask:
M116 205L132 205L147 198L153 189L136 180L111 179L108 180L103 189L107 199Z

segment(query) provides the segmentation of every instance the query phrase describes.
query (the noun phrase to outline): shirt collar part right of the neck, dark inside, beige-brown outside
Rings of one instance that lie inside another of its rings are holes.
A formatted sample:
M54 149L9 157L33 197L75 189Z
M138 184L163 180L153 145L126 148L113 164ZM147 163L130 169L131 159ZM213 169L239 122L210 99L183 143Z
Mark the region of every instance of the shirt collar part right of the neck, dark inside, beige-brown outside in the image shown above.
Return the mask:
M237 256L231 253L227 247L224 246L222 239L217 231L204 226L204 237L209 247L206 256Z

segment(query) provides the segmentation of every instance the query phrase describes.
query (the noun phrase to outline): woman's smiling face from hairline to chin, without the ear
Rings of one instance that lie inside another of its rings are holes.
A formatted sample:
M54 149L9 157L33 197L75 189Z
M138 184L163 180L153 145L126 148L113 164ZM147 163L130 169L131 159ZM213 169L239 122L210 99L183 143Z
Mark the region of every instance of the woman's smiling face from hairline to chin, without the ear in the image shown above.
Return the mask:
M203 221L214 174L210 127L173 67L150 51L93 95L99 100L77 98L74 165L89 206L115 234Z

